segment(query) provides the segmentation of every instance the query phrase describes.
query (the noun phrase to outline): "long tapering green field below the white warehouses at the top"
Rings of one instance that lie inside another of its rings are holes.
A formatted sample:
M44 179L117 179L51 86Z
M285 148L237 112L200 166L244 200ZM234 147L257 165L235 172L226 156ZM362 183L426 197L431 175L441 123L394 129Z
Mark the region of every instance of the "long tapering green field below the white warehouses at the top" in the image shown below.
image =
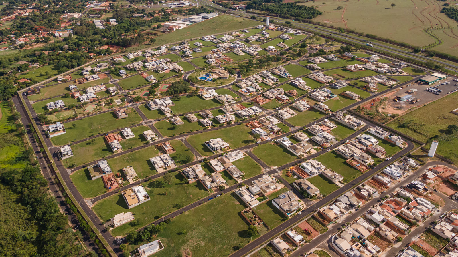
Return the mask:
M173 33L167 33L156 37L155 44L163 45L189 38L208 36L237 29L244 29L247 27L257 26L259 24L262 24L262 22L220 14L207 21L199 22L177 30Z

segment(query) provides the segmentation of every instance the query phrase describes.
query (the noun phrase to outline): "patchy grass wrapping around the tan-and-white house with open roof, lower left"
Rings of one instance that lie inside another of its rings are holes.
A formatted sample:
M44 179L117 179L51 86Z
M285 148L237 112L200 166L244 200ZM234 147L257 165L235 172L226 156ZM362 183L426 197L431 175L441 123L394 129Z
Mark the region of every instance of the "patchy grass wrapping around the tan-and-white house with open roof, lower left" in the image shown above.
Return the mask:
M122 195L115 194L95 204L93 210L104 221L121 212L131 211L138 222L137 225L131 226L127 223L111 230L113 236L123 236L157 220L160 214L169 214L208 195L202 184L183 182L183 175L179 172L174 172L173 175L170 184L164 184L162 177L143 183L150 200L134 208L128 209Z

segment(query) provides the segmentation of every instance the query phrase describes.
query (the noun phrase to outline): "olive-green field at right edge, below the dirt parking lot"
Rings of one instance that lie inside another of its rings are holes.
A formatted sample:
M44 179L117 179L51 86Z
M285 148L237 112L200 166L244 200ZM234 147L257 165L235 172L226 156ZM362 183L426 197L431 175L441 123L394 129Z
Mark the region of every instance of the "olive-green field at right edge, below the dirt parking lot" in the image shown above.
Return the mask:
M458 124L458 116L450 113L458 102L458 94L453 93L409 112L388 123L389 127L427 143L430 147L434 137L439 141L436 153L458 162L458 133L447 134L448 125ZM434 115L431 115L434 113Z

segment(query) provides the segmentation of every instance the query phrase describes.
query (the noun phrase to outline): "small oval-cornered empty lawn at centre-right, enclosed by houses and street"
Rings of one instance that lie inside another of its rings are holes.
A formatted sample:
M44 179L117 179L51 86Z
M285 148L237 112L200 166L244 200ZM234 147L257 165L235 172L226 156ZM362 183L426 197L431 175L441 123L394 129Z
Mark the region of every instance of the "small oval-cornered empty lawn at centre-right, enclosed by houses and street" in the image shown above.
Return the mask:
M268 166L282 166L296 159L296 156L291 154L289 150L286 150L283 146L273 144L256 146L255 149L253 149L253 154L259 157L259 159L264 161Z

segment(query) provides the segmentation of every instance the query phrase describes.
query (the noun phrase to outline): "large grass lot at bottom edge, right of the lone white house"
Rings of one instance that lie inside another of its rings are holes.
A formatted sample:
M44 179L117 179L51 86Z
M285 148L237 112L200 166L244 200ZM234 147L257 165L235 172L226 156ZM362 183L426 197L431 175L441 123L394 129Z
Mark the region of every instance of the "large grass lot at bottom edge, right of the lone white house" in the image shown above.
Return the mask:
M248 225L239 216L244 208L226 194L181 214L158 234L165 248L155 256L181 256L186 249L193 256L221 256L233 252L234 247L244 246L251 240L247 235ZM184 228L186 233L181 235Z

